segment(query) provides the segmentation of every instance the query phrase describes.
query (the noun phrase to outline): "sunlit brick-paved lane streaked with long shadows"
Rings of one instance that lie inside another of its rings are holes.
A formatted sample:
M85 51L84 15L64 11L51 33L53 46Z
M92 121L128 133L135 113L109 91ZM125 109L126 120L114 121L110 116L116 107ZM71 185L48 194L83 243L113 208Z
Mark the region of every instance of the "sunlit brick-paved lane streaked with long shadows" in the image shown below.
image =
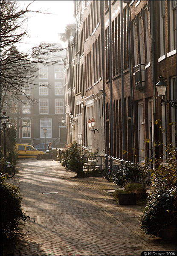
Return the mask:
M52 160L20 160L18 169L23 209L35 222L26 221L15 256L136 256L144 250L176 250L142 233L145 205L117 204L106 192L116 186L104 177L75 178ZM42 194L49 192L58 193Z

